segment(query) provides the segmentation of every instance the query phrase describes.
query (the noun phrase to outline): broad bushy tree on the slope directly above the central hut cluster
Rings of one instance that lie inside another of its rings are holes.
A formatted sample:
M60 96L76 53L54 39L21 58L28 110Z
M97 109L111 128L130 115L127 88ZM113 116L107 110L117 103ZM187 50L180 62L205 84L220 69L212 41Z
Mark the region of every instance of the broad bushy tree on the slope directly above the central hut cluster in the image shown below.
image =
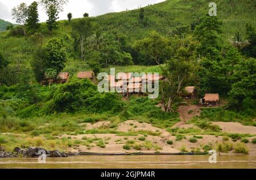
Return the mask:
M147 62L145 65L160 65L170 56L170 41L168 38L159 35L153 31L150 35L142 40L135 41L133 48L139 53L146 55Z

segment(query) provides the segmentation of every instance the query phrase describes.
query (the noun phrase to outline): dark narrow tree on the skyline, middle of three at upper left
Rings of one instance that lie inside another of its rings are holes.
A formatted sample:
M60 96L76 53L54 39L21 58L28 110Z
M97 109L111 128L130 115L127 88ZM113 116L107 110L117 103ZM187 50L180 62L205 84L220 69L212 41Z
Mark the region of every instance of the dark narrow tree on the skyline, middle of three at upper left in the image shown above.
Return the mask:
M30 31L35 32L36 29L38 29L40 26L38 22L39 22L38 3L34 1L31 3L30 6L28 6L26 25Z

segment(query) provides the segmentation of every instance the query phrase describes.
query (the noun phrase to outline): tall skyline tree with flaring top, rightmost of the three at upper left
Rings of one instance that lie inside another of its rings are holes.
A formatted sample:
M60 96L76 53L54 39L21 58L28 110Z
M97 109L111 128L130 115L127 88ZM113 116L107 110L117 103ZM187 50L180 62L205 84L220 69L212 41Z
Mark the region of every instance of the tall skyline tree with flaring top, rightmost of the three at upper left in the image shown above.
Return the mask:
M40 3L46 9L48 15L47 25L49 31L57 28L56 20L59 19L59 13L63 11L63 6L68 0L40 0Z

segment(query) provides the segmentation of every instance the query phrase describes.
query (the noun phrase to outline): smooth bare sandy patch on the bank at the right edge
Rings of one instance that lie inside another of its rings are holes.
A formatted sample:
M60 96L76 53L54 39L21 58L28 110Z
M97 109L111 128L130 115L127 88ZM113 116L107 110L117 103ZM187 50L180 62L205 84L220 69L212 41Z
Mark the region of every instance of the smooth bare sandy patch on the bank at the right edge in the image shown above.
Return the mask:
M256 134L256 127L243 126L238 122L212 122L213 125L218 125L224 132L240 133L240 134Z

